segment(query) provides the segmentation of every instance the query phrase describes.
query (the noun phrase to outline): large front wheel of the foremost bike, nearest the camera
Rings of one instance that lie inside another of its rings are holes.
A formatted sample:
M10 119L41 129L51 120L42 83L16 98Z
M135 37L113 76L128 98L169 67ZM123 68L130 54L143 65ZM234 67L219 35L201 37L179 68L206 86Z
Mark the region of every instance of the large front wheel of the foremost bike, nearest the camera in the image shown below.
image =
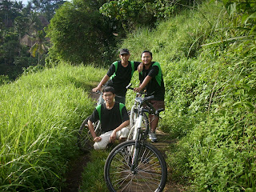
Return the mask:
M134 173L130 170L135 141L122 142L106 159L104 178L108 190L116 191L156 191L161 192L166 185L167 167L160 151L145 142L138 154L138 166Z

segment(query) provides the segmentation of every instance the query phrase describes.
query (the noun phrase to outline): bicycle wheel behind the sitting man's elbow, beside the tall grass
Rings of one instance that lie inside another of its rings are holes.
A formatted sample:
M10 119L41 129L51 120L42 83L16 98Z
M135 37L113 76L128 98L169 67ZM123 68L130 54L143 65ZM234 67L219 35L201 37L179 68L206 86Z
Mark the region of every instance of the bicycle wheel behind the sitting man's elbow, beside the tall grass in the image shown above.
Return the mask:
M94 140L90 134L90 130L88 127L89 118L90 116L87 117L86 120L82 122L78 131L78 147L83 152L89 152L90 150L93 149L93 146L94 146ZM99 121L93 123L94 129L98 125L98 123ZM95 131L96 135L100 135L101 134L100 132L101 132L100 129Z

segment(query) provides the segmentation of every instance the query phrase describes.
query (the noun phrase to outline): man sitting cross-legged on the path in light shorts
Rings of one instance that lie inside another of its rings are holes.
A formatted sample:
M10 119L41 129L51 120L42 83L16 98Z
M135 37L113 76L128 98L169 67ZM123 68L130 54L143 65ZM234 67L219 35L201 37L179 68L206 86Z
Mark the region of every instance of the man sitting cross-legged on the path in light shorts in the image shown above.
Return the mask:
M97 106L88 120L90 134L95 142L95 150L105 149L115 139L124 142L130 132L130 129L126 127L130 124L126 106L123 103L114 102L114 88L105 86L102 94L105 103ZM104 132L100 136L95 134L92 124L92 122L97 122L98 120L101 121L102 131Z

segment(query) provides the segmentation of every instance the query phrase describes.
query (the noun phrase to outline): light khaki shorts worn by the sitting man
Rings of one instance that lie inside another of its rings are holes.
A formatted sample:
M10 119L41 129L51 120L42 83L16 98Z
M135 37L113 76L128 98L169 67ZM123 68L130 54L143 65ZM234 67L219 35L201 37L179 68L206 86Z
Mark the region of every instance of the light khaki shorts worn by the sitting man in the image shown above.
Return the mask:
M106 132L105 134L101 134L99 137L101 137L102 140L100 142L95 142L94 143L94 149L95 150L105 149L107 144L110 143L110 135L112 134L112 132L113 132L113 130L110 130L110 131ZM116 139L127 138L129 133L130 133L130 129L129 128L127 128L127 127L122 128L122 130L119 130L117 132Z

